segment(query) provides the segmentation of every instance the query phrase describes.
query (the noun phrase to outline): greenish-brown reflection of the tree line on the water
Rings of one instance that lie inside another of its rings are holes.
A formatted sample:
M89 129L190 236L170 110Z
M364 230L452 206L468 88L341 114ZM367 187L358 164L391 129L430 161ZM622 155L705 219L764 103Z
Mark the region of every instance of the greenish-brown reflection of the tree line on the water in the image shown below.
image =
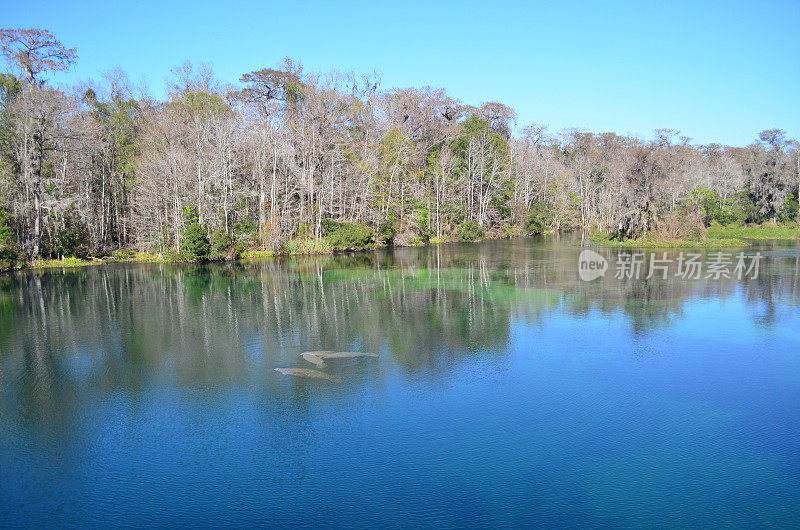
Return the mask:
M240 384L313 349L374 351L406 372L431 373L465 356L503 355L515 321L541 325L554 312L620 313L646 334L682 319L695 300L740 296L753 321L772 326L800 299L794 250L766 248L759 278L747 281L609 273L589 283L577 278L573 243L5 275L4 395L59 415L70 401L62 392Z

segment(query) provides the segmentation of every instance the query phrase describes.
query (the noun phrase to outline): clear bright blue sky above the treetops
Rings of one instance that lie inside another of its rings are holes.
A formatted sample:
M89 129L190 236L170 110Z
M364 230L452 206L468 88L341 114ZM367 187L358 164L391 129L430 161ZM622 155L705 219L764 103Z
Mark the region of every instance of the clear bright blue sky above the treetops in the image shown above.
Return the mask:
M710 2L38 2L0 0L0 27L42 27L76 47L58 82L119 66L156 96L173 66L242 73L299 59L307 70L379 71L500 101L552 131L746 145L762 129L800 138L800 0Z

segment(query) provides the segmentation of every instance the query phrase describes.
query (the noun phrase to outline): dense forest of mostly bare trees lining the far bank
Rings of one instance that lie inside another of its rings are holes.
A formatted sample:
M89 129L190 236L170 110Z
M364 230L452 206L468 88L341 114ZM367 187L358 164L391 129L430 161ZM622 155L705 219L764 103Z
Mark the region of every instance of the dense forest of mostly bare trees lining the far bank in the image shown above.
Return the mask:
M0 259L145 251L231 257L470 241L591 228L687 237L711 223L796 222L800 149L518 126L430 87L310 73L294 60L238 85L171 72L165 101L115 70L56 87L77 52L0 30Z

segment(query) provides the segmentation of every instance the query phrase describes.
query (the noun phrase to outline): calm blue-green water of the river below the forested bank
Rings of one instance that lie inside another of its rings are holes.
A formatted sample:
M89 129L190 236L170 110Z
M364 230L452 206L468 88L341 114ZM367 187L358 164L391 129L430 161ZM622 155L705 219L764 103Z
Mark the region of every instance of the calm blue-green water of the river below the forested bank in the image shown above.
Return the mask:
M0 526L800 527L796 247L742 281L582 282L573 239L0 276ZM378 357L274 371L306 350Z

